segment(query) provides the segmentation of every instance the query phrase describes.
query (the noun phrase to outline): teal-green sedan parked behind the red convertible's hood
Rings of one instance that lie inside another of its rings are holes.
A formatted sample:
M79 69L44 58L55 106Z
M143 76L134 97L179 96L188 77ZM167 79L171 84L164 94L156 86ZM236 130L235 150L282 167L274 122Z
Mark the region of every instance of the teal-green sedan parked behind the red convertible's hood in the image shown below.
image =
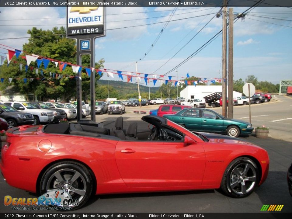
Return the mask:
M251 123L229 119L211 109L186 108L176 114L163 117L185 127L190 131L215 132L238 137L240 134L251 134Z

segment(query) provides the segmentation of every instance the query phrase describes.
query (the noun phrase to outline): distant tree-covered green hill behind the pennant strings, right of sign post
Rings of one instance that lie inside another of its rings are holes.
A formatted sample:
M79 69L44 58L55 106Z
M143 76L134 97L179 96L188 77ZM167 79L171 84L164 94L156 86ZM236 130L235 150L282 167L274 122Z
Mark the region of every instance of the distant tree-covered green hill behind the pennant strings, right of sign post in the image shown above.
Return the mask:
M97 84L99 86L101 85L107 85L107 80L98 80ZM114 89L116 89L120 94L122 95L126 95L128 93L135 93L138 92L138 86L137 83L127 83L127 82L121 82L121 81L109 81L109 86L112 86ZM139 88L140 88L140 93L144 93L144 92L149 92L149 87L148 86L144 86L139 84ZM156 91L158 91L159 87L150 87L150 93L155 93Z

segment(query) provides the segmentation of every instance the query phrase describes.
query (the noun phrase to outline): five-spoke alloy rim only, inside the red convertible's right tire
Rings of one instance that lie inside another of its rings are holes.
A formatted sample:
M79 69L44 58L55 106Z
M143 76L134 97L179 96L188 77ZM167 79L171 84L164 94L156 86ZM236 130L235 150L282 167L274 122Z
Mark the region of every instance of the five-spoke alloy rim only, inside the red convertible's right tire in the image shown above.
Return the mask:
M249 193L256 184L256 171L253 165L243 162L232 169L228 190L237 195Z

